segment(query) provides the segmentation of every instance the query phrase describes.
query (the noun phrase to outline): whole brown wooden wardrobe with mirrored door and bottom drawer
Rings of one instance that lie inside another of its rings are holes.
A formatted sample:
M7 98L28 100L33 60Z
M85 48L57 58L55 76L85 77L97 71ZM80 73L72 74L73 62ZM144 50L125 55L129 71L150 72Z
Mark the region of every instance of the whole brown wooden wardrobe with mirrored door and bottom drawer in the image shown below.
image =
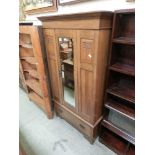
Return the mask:
M91 143L103 116L113 13L39 17L56 114Z

